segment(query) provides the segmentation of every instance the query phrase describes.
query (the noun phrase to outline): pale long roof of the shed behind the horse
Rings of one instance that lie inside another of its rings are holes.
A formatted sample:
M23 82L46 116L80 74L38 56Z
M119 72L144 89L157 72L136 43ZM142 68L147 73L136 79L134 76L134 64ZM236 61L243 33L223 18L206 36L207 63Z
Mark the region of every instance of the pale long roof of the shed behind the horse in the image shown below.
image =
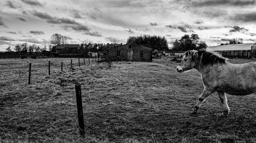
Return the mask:
M234 50L252 50L252 45L255 43L243 43L233 45L216 45L206 48L207 51L234 51Z

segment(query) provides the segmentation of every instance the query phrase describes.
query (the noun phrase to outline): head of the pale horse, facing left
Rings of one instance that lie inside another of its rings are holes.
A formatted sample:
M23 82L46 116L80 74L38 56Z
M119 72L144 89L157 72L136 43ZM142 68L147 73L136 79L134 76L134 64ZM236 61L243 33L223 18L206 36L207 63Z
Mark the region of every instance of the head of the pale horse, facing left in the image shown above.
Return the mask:
M198 57L198 51L187 51L183 56L182 61L177 66L178 72L185 72L195 67L195 58Z

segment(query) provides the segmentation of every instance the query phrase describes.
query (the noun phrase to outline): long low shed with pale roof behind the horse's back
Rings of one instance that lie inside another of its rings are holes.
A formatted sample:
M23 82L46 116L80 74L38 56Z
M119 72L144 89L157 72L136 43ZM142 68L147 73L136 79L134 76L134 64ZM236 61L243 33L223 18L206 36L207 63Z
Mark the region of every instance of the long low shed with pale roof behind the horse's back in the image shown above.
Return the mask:
M209 46L207 51L219 52L225 57L256 58L256 43Z

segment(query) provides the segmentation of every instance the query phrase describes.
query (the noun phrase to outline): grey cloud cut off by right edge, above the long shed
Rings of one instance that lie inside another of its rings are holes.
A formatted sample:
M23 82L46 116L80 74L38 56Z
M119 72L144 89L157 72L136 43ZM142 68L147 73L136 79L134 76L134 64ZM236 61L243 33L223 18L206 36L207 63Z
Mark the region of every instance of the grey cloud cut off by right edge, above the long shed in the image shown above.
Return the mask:
M256 22L256 12L237 13L234 16L231 16L231 19L243 22Z

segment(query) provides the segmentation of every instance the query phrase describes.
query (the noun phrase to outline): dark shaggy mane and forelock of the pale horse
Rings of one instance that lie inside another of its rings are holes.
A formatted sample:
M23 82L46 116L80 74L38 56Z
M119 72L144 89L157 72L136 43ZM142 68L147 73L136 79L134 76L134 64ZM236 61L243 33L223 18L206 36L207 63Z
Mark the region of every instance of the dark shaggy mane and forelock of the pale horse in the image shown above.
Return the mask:
M200 50L200 51L187 51L185 52L185 56L190 56L189 54L191 54L192 56L195 56L195 54L198 55L198 63L202 63L204 65L207 64L226 64L227 58L222 57L220 54L216 53L216 52L209 52L209 51L205 51L205 50Z

